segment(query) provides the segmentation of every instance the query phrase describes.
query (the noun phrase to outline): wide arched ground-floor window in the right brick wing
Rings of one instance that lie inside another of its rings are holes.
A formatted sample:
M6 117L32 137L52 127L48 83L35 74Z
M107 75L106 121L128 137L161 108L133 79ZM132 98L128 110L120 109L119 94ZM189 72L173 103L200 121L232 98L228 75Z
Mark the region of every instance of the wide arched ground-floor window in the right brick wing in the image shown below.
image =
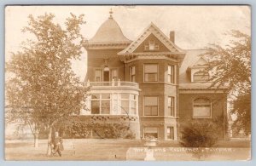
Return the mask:
M211 117L211 100L198 98L194 100L193 117Z

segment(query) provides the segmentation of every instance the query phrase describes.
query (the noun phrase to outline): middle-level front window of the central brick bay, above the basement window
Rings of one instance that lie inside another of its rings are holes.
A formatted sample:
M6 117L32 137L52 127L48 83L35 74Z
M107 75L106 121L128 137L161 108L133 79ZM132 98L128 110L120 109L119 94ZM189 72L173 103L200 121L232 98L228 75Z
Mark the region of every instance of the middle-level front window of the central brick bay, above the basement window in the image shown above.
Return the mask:
M158 115L158 97L147 96L144 97L144 116Z

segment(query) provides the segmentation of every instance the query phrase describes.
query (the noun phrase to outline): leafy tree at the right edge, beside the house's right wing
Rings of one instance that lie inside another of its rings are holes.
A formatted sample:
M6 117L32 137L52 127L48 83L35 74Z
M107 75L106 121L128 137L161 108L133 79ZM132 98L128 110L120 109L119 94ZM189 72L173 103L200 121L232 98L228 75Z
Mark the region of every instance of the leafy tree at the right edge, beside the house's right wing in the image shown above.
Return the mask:
M212 44L207 48L210 80L212 86L225 86L234 108L231 111L237 118L233 129L251 131L251 37L241 31L226 34L230 43L221 46Z

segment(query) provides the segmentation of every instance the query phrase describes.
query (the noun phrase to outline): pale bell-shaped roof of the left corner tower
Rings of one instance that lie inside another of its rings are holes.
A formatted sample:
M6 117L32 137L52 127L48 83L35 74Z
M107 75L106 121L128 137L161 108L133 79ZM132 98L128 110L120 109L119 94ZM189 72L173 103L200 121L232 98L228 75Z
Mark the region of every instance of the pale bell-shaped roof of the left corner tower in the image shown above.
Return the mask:
M113 20L113 17L109 17L88 43L131 43L131 40L125 37L118 23Z

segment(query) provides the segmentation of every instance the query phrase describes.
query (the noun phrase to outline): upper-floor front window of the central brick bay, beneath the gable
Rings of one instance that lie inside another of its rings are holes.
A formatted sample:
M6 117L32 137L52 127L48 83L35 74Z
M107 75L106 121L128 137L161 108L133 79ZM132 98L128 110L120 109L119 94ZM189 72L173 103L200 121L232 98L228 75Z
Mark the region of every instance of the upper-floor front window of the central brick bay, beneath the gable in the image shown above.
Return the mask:
M144 81L145 82L158 81L158 65L157 64L144 65Z

